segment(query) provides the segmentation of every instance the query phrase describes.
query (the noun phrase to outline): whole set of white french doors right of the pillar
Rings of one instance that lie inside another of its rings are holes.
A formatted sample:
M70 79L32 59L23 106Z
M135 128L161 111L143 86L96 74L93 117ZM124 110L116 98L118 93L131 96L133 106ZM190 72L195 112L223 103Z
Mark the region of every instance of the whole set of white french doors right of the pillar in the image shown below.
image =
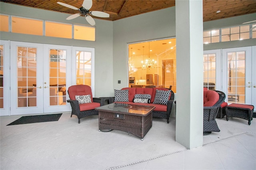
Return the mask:
M204 82L226 102L256 105L256 46L204 51Z

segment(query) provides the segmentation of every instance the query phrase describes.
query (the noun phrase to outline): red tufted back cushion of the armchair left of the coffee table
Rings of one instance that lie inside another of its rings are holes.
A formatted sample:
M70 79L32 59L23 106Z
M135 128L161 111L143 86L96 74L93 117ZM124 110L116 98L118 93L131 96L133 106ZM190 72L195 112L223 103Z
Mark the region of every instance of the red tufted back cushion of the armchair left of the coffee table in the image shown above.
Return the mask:
M76 95L91 95L91 100L93 101L92 89L88 85L72 85L68 87L68 95L71 100L76 100Z

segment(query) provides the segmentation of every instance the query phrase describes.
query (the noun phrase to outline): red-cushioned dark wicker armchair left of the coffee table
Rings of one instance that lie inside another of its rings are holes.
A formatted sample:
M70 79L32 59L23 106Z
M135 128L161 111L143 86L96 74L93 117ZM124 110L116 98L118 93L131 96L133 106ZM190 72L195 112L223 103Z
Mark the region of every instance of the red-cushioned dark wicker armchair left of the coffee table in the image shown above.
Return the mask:
M98 115L98 111L95 108L105 104L105 99L92 97L92 89L88 85L72 85L68 88L68 95L70 100L67 100L67 102L70 103L72 108L71 117L76 115L78 123L83 117ZM79 104L76 100L76 95L90 95L92 102Z

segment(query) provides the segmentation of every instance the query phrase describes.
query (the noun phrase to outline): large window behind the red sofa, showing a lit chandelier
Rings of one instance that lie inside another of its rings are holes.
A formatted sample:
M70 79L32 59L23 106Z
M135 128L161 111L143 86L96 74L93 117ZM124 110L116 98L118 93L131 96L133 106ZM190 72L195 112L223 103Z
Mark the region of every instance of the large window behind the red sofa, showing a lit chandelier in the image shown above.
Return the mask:
M128 45L131 85L172 89L176 93L176 38Z

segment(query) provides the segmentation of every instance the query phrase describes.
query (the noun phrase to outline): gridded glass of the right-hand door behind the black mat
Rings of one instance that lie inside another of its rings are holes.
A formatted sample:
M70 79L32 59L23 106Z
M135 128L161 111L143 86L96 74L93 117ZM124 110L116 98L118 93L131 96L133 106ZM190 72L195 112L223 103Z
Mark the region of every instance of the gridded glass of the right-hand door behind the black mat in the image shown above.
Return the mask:
M66 50L49 51L50 106L66 105Z

